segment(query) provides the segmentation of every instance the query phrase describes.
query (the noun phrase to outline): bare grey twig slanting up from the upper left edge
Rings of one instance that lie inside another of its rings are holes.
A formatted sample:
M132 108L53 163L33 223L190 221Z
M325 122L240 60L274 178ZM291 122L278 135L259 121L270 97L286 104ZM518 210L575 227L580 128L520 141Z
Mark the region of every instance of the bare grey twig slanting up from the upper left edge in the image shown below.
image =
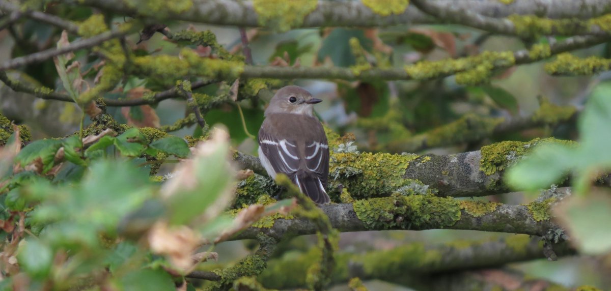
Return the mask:
M47 49L45 51L35 52L34 54L29 54L24 57L16 57L15 59L4 62L0 66L0 71L14 69L29 63L42 62L43 60L51 59L52 57L65 54L67 52L76 51L78 49L91 48L92 46L99 45L104 41L122 37L123 35L127 35L129 33L130 32L128 31L107 31L102 34L98 34L95 37L74 41L73 43L70 43L70 45L64 46L63 48Z

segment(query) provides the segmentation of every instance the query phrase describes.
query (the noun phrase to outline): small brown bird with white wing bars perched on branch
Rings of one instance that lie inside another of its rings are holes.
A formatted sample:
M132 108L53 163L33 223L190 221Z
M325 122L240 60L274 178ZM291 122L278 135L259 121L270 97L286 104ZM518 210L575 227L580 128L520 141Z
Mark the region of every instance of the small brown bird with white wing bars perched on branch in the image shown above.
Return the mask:
M319 205L331 201L326 192L329 144L313 115L313 105L320 102L299 86L282 87L269 101L258 132L258 155L269 176L286 174Z

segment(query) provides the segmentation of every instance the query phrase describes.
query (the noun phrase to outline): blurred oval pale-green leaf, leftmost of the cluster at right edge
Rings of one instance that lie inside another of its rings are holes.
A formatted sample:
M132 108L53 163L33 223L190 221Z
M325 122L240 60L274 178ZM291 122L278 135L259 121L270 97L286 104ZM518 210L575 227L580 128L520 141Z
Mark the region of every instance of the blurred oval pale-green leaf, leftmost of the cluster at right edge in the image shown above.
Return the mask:
M505 179L516 189L547 189L565 176L573 162L571 153L571 149L563 145L536 146L524 160L507 170Z

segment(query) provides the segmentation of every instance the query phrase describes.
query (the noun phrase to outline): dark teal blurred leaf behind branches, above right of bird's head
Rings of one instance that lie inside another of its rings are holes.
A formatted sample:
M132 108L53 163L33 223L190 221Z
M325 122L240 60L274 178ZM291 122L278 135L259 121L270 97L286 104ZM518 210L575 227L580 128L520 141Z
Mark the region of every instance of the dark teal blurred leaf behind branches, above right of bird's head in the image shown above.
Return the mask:
M326 57L330 57L335 66L351 66L356 63L356 59L350 49L350 38L356 37L360 45L367 51L371 51L373 42L365 37L364 31L360 29L335 28L331 34L323 39L323 44L318 51L318 61L324 62Z

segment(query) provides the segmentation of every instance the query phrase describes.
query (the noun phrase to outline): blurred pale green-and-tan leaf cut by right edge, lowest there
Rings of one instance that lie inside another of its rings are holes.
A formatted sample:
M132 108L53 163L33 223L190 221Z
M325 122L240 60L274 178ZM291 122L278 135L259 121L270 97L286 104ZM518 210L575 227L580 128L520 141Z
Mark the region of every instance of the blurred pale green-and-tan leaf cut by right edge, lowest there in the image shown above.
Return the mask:
M569 196L553 209L580 253L602 255L611 251L611 193L599 190L588 197Z

